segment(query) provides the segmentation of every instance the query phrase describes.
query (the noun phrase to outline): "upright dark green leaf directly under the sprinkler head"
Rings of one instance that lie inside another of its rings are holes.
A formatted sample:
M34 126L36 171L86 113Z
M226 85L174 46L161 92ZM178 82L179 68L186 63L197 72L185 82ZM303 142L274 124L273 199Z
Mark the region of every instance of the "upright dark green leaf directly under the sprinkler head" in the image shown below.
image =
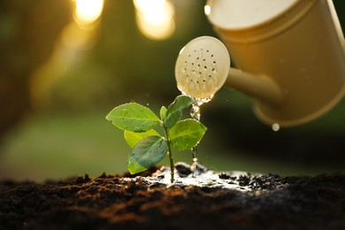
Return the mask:
M193 99L189 96L178 96L171 103L166 111L164 125L165 127L171 128L179 121L182 117L182 111L193 103Z

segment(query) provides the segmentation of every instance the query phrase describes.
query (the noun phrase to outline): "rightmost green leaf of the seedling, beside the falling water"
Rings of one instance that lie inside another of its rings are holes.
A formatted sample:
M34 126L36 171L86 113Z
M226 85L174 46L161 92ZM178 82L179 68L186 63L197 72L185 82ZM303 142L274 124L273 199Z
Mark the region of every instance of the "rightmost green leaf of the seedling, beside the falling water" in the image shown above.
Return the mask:
M180 151L192 149L203 138L207 128L196 119L179 121L169 132L173 148Z

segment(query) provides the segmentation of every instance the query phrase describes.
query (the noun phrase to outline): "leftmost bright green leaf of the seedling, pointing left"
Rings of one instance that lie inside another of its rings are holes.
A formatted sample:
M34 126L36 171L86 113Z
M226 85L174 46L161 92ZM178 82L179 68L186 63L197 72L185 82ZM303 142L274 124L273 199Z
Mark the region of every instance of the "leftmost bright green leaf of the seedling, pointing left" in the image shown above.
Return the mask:
M157 125L159 119L149 108L139 103L125 103L115 107L105 117L120 129L140 133Z

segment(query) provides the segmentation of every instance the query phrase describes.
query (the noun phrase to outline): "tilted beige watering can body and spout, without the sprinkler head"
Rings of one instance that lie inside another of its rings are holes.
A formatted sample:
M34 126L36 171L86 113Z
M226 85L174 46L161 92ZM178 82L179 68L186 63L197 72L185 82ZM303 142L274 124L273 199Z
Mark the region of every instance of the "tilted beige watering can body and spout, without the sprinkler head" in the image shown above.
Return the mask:
M344 39L332 0L208 0L230 53L225 85L255 98L267 124L317 119L345 93Z

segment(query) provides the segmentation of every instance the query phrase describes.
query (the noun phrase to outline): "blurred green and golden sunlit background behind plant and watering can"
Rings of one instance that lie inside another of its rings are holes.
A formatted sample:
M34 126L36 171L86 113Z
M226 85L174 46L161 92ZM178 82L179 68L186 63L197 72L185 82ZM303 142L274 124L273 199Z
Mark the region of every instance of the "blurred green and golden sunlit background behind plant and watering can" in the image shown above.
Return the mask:
M217 37L204 1L156 1L157 9L149 4L155 1L141 2L0 2L0 179L126 171L130 149L105 115L130 101L156 112L173 102L180 49L200 35ZM334 4L344 26L345 3ZM149 30L155 15L165 24ZM226 88L203 105L203 165L281 175L345 172L345 101L279 132L257 120L251 105ZM191 163L189 153L174 158Z

